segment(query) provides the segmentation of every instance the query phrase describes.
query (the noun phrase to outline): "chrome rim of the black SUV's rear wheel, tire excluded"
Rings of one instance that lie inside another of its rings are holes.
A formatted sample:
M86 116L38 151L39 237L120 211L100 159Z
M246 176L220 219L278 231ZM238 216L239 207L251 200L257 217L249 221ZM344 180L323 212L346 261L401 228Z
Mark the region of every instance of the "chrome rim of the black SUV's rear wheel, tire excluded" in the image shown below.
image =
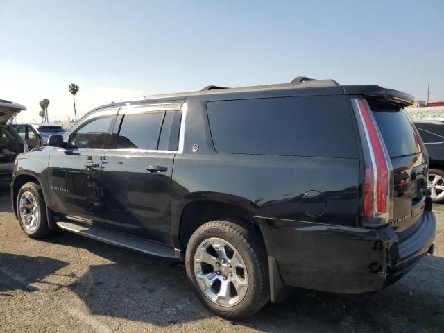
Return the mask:
M246 264L228 241L205 239L194 253L194 275L200 289L217 305L237 305L248 289Z

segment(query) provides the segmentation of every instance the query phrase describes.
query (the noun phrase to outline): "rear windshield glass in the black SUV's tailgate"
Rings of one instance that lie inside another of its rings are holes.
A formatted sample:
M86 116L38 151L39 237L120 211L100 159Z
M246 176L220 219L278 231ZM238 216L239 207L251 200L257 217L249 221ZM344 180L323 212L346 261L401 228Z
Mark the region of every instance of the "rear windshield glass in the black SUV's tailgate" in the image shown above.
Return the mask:
M404 109L398 105L368 101L390 157L418 153L415 133Z

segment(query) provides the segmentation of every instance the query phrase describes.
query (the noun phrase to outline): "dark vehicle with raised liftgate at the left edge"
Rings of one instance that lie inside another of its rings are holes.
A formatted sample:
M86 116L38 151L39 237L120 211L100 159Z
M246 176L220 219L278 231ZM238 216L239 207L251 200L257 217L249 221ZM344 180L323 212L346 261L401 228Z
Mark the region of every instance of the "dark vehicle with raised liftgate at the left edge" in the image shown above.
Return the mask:
M15 157L29 150L26 142L9 126L12 118L23 110L26 110L23 105L0 99L0 189L11 182Z

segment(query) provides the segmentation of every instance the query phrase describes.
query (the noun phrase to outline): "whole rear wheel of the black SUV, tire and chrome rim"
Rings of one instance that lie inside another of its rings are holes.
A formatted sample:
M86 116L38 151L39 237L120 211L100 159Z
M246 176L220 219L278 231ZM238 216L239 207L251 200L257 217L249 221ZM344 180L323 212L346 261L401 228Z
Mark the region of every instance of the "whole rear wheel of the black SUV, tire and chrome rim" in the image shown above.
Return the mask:
M269 300L266 250L259 232L241 221L212 221L189 239L187 275L215 314L246 318Z

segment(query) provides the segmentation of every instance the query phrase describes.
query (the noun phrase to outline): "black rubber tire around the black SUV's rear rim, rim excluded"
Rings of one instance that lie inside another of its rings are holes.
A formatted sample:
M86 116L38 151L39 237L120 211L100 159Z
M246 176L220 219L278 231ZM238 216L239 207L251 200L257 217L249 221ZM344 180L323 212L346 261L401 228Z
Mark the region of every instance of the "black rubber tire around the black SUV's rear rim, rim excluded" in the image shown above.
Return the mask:
M198 246L212 237L228 241L244 259L247 290L244 298L233 306L221 306L208 298L200 289L194 273L194 255ZM270 299L267 254L259 232L242 221L219 220L201 225L189 239L185 265L187 275L198 298L214 314L228 319L242 319L255 314Z

